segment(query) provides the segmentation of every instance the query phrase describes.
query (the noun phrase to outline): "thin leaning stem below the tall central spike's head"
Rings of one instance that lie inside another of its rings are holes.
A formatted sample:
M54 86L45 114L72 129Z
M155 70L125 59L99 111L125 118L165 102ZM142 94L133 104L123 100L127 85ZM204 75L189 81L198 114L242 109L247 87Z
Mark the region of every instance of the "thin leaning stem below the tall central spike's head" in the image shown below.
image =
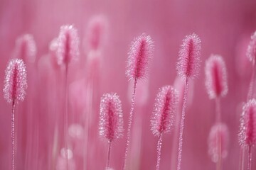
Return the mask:
M126 142L125 142L124 162L123 162L123 166L122 166L123 170L125 169L126 162L127 162L127 154L128 154L129 141L130 141L130 135L131 135L131 127L132 127L132 116L133 116L133 112L134 112L134 101L135 101L136 85L137 85L137 79L134 79L134 91L132 92L132 106L131 106L131 111L129 113L127 139L126 139Z

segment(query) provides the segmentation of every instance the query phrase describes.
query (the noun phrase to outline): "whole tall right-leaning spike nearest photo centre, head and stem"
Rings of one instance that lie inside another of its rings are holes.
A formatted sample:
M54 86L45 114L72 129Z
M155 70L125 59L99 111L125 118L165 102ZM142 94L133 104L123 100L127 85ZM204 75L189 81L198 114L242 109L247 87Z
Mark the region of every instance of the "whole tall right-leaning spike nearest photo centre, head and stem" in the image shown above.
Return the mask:
M142 35L139 35L139 37L134 39L129 51L126 75L129 80L134 80L134 88L132 93L132 106L129 113L127 139L122 169L125 169L127 162L137 80L146 78L149 69L149 62L153 57L153 48L154 46L151 37L143 33Z

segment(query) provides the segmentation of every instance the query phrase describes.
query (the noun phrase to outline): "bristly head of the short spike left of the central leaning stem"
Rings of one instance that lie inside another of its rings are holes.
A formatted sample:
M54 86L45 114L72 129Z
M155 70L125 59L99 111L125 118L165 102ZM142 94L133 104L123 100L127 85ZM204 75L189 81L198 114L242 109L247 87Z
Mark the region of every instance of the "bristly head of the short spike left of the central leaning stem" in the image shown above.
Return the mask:
M117 94L104 94L100 101L100 136L110 142L122 137L124 122L122 105Z

